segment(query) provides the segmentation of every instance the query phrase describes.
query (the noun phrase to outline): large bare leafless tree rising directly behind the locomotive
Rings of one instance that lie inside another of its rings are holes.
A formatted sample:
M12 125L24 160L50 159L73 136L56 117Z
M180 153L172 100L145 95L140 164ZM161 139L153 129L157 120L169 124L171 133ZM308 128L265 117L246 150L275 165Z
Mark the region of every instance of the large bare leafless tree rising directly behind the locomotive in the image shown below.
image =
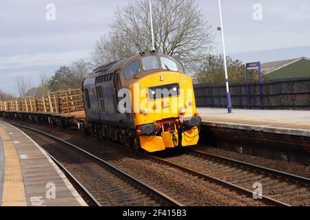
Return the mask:
M173 56L189 71L196 70L211 51L211 27L195 0L157 0L153 3L154 38L157 52ZM92 54L94 63L109 63L152 48L148 1L135 0L117 8Z

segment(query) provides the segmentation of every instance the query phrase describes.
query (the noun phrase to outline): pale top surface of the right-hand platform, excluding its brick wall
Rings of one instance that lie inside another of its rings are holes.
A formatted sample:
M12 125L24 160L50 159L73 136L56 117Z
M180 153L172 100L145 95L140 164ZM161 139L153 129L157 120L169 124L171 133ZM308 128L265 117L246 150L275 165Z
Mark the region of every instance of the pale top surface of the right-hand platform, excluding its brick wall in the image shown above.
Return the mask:
M198 108L203 124L310 137L310 111Z

